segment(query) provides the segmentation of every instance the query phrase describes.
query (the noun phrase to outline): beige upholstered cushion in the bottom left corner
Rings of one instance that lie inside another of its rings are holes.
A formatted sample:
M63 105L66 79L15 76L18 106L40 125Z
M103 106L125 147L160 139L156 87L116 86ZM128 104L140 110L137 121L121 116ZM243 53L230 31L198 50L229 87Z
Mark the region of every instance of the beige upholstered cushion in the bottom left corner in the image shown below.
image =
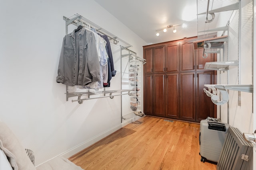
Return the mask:
M0 121L0 149L4 151L14 170L36 170L20 141L2 121Z

